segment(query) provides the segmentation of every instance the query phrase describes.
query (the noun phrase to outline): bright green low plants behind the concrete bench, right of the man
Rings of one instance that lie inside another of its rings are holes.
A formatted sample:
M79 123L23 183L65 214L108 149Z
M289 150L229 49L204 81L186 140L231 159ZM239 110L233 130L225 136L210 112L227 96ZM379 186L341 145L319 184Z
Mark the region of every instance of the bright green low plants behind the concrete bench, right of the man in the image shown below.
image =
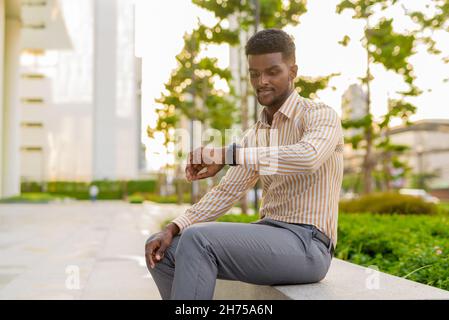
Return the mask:
M335 257L449 290L449 217L340 214Z

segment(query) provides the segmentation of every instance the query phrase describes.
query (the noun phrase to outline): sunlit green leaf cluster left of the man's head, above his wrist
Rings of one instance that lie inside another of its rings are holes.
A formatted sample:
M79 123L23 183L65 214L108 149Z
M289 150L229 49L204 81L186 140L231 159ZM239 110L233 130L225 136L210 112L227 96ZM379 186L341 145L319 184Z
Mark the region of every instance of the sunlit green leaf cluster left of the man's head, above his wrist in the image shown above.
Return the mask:
M217 28L212 34L222 33ZM184 36L184 48L176 56L178 67L165 84L166 92L156 100L162 108L158 110L156 127L149 127L147 132L152 138L156 132L162 132L165 145L174 141L171 129L178 126L182 116L222 132L234 122L236 108L230 97L233 95L230 71L218 67L215 58L199 57L205 33L205 27L200 25ZM215 83L220 79L225 81L229 92L216 88Z

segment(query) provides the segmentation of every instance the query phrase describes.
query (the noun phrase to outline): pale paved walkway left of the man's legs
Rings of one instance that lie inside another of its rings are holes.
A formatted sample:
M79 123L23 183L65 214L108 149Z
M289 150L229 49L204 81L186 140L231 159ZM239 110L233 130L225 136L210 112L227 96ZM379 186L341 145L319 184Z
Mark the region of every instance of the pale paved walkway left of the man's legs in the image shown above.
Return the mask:
M144 243L185 208L0 205L0 299L160 299Z

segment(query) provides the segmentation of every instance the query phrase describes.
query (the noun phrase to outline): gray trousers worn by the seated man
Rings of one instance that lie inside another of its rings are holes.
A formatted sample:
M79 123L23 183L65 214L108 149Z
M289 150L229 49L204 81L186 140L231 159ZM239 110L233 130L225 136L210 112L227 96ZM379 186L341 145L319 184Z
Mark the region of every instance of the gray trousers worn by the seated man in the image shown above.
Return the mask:
M147 267L164 300L210 300L217 278L258 285L319 282L332 255L315 232L311 225L269 218L201 222L175 236L154 269Z

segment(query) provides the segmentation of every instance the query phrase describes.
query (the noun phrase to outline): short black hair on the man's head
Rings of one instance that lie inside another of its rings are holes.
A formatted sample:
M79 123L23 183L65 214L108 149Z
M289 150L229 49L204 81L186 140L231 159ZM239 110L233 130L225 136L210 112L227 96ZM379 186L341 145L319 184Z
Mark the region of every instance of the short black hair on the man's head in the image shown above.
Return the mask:
M293 38L279 29L265 29L255 33L246 43L245 53L259 55L281 52L284 60L295 61L296 46Z

